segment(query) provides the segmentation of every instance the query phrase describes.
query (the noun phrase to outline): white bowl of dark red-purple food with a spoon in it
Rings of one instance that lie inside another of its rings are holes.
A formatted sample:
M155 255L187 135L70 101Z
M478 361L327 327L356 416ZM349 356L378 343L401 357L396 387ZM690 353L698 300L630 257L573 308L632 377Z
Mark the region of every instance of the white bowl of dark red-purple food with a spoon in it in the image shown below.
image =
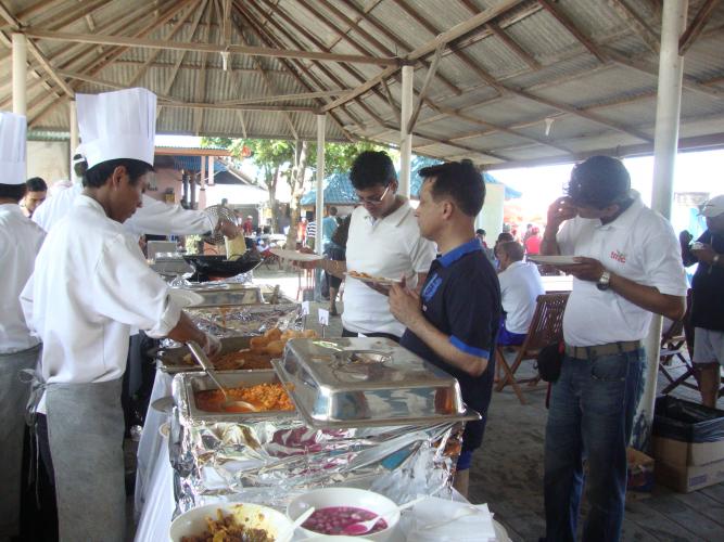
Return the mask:
M314 506L317 509L327 508L330 506L355 506L357 508L364 508L374 514L385 514L385 521L388 522L388 528L372 533L367 533L364 537L345 537L354 540L373 540L376 542L384 542L390 538L392 531L394 530L397 521L399 521L399 511L389 514L391 509L394 509L397 504L388 499L380 493L373 491L367 491L365 489L355 489L355 488L323 488L316 489L304 493L287 506L287 515L296 519L308 509L309 506ZM319 540L319 541L333 541L340 540L339 537L332 537L329 534L321 534L319 532L309 531L300 527L307 538Z

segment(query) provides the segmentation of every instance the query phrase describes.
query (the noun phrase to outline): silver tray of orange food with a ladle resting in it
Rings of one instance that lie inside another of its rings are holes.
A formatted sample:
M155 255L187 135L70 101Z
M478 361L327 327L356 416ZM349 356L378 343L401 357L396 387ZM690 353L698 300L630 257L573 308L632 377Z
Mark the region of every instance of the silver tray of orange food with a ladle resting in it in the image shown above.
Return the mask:
M268 371L226 371L216 373L219 382L228 388L240 388L255 386L257 384L279 383L277 373L272 370ZM205 373L188 373L182 375L183 387L182 392L186 395L186 400L181 401L188 412L183 414L194 421L205 422L240 422L250 418L258 417L296 417L294 411L265 411L265 412L207 412L196 408L196 400L194 393L205 389L218 389L216 384Z

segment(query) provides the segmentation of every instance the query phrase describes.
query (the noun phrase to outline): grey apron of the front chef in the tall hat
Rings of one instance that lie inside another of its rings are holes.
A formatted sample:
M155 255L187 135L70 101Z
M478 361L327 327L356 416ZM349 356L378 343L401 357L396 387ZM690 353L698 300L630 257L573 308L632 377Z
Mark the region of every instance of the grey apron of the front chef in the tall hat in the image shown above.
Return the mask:
M46 386L61 542L124 540L120 387L120 378Z

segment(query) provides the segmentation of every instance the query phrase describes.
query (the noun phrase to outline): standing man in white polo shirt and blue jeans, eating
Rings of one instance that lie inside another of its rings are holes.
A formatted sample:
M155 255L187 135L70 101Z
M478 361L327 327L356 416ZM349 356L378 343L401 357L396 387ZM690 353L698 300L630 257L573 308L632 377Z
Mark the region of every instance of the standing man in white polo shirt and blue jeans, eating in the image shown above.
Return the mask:
M652 312L678 320L686 308L678 241L671 223L631 193L623 164L594 156L573 169L568 197L549 207L541 248L576 257L561 268L574 280L546 427L546 541L576 539L585 456L590 511L583 540L615 542L644 385L642 339Z

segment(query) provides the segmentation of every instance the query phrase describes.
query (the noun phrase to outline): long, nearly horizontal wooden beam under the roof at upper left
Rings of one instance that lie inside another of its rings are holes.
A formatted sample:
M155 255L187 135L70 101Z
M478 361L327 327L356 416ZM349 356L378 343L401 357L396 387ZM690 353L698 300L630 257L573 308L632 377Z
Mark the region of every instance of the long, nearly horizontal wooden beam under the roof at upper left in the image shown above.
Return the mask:
M292 51L268 49L263 47L217 46L213 43L189 43L183 41L164 41L149 38L130 38L125 36L102 36L99 34L58 33L49 30L26 30L26 36L35 39L54 41L69 41L76 43L96 43L100 46L116 46L123 48L163 49L167 51L195 51L205 53L220 53L228 51L231 54L250 54L254 56L270 56L281 59L306 59L318 62L345 62L358 64L374 64L380 66L397 66L397 59L382 59L360 56L355 54L321 53L316 51Z

